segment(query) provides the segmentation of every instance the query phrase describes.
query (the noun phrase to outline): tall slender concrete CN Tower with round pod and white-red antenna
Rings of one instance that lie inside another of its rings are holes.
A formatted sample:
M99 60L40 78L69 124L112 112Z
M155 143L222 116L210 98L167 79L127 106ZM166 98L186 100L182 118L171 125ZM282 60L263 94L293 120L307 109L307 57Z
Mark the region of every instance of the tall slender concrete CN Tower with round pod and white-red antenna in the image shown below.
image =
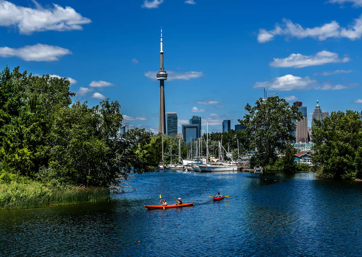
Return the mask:
M166 111L165 111L165 87L164 81L167 80L167 73L163 69L163 50L162 50L162 27L161 27L161 51L160 51L160 70L157 72L157 80L160 81L160 110L159 110L159 133L166 134Z

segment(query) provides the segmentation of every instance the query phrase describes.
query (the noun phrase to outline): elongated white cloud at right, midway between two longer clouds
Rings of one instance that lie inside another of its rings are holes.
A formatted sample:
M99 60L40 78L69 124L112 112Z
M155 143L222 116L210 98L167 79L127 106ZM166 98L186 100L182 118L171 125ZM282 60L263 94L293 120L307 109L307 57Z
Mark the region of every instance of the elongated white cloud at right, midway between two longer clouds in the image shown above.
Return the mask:
M327 63L346 63L350 61L348 57L343 59L338 57L338 53L332 53L328 51L320 51L315 55L301 55L300 53L292 53L289 57L279 59L273 58L274 61L269 63L272 67L293 67L293 68L303 68L313 65L323 65Z

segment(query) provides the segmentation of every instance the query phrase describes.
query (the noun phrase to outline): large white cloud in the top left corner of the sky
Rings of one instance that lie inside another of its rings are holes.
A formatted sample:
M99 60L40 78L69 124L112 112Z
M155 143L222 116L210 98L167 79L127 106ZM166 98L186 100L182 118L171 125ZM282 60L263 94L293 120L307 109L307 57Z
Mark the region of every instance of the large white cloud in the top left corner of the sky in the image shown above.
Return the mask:
M53 4L52 8L43 8L33 0L35 9L22 7L0 0L0 26L16 26L21 34L46 30L82 30L81 25L92 22L81 16L73 8Z

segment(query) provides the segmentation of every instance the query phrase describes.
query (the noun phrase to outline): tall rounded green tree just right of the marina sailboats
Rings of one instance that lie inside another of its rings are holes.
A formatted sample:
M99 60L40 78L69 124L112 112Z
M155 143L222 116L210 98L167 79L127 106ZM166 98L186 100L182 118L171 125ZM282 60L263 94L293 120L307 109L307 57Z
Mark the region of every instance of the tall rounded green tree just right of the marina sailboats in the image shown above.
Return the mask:
M255 106L245 106L247 114L240 124L247 128L250 146L255 147L258 154L253 157L255 166L274 164L276 151L285 151L290 142L295 140L292 132L296 125L294 120L302 118L297 106L290 106L285 99L278 96L258 99Z

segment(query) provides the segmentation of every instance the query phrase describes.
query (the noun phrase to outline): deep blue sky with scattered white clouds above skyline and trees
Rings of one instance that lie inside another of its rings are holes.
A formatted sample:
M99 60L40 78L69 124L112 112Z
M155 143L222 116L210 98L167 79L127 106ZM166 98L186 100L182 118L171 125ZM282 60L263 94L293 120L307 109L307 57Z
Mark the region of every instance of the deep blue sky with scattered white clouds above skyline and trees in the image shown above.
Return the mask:
M179 132L232 128L277 93L322 111L362 109L362 0L2 1L1 68L69 78L77 99L118 100L130 126L157 132L160 27L167 112Z

